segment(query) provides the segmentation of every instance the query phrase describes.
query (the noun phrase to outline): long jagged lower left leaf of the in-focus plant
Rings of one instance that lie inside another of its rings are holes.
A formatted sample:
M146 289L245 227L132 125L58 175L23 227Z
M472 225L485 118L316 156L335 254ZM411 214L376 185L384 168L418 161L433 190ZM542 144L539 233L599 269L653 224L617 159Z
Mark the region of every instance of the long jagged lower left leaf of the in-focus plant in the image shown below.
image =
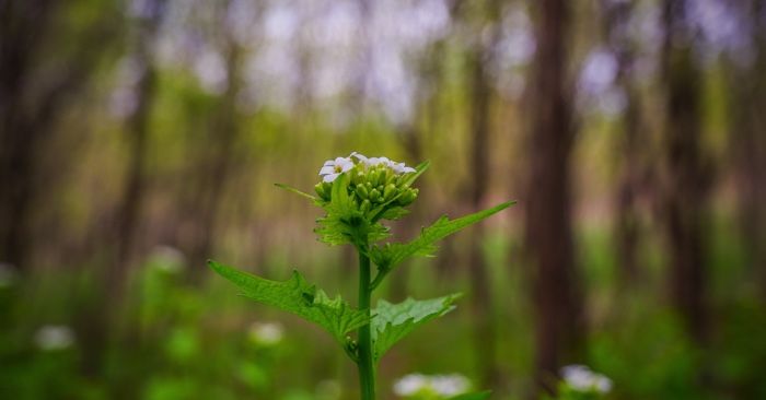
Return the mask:
M212 260L208 261L208 266L240 287L244 296L321 326L341 345L346 342L346 333L370 321L367 310L351 308L340 296L330 299L324 291L309 284L298 271L293 271L289 280L277 282Z

